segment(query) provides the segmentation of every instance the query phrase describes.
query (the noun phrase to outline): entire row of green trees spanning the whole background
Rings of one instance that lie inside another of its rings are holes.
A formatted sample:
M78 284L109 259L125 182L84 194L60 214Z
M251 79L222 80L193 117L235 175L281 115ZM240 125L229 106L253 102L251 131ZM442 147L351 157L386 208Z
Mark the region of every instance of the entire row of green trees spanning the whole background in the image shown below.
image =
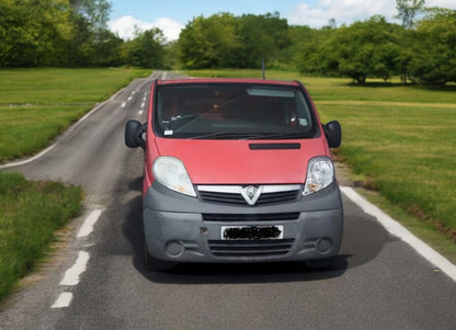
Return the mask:
M289 25L277 12L196 16L175 42L137 30L124 41L107 29L107 0L2 0L0 67L137 66L146 68L269 68L403 83L456 82L456 11L397 0L402 24L374 15L351 25Z

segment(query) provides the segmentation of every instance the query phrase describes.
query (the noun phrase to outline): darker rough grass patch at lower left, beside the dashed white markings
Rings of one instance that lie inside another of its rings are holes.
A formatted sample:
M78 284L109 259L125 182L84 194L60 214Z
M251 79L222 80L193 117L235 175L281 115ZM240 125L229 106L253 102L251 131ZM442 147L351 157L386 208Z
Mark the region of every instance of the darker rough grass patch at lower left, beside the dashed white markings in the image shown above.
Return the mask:
M77 186L0 173L0 300L49 251L55 230L79 214L81 198Z

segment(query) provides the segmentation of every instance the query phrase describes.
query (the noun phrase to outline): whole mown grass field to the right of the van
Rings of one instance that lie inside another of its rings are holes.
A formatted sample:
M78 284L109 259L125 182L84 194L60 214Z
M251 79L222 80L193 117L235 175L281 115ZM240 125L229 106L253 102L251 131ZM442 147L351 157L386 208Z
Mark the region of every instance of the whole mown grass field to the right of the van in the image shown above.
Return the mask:
M260 70L189 71L194 77L261 78ZM299 80L322 122L342 125L340 158L374 203L456 262L456 89L432 90L269 71Z

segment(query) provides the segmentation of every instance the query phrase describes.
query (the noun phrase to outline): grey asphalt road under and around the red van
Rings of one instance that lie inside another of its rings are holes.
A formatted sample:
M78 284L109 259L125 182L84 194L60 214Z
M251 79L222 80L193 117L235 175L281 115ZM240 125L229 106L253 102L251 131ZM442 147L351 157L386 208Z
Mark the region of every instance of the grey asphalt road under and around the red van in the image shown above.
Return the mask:
M147 272L142 151L127 149L123 133L128 120L145 121L149 88L150 79L134 81L45 156L5 169L82 185L87 212L62 234L53 261L0 307L0 329L455 329L456 283L346 197L331 270L269 263ZM104 209L94 231L77 237L93 209ZM88 262L77 284L61 284L81 253ZM62 293L72 296L69 306L52 308Z

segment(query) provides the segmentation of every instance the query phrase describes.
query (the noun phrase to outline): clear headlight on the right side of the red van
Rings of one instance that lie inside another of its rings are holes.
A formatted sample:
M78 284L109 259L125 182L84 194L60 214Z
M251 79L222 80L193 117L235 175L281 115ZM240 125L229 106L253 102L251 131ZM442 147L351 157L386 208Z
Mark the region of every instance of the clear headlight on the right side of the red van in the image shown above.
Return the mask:
M316 193L330 185L332 181L334 181L334 166L332 161L326 157L312 158L307 168L306 186L303 195Z

